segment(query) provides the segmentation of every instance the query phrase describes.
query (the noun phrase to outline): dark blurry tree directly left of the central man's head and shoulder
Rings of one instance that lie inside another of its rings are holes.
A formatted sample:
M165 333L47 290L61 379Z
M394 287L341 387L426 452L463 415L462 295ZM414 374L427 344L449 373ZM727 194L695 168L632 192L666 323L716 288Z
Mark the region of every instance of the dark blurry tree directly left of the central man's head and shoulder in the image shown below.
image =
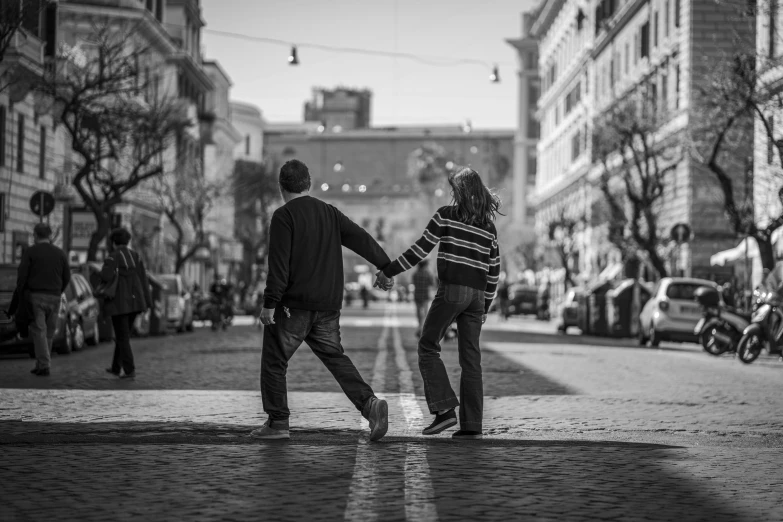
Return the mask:
M269 224L282 202L277 164L239 160L234 165L236 237L242 243L242 279L255 283L252 267L269 249Z

